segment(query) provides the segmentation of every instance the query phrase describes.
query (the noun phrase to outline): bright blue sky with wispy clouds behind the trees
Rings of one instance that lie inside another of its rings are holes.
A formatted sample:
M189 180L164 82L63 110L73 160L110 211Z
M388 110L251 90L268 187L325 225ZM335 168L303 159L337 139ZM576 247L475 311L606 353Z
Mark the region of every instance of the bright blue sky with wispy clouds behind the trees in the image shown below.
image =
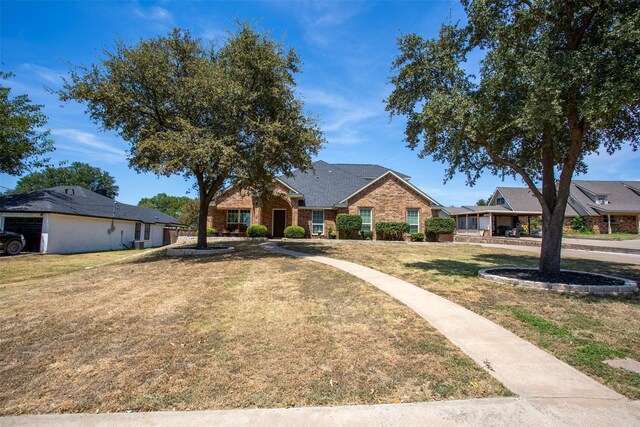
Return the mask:
M457 1L11 1L0 2L0 62L16 77L13 94L28 94L44 105L55 140L54 163L82 161L111 173L118 199L136 204L160 192L196 196L180 176L158 178L128 168L127 145L101 132L79 104L64 104L45 86L58 88L67 64L89 65L116 37L136 42L189 29L205 40L223 40L235 21L256 22L296 50L303 62L298 92L315 115L328 144L318 159L335 163L376 163L412 176L412 182L444 205L473 204L498 185L523 185L486 173L475 187L464 176L443 184L444 166L418 159L406 148L404 122L384 111L391 92L390 65L396 39L416 32L435 37L451 17L463 19ZM469 64L473 70L475 64ZM640 152L625 148L614 156L587 159L587 179L640 180ZM0 174L0 186L16 177Z

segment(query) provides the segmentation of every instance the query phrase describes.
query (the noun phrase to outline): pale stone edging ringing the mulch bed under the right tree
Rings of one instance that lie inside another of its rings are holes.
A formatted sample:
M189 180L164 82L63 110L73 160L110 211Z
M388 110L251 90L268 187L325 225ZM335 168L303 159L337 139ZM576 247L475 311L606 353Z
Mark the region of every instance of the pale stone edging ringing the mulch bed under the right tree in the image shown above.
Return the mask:
M633 280L625 279L623 277L609 276L606 274L589 273L595 276L602 276L602 277L622 280L624 281L624 285L622 286L605 286L605 285L582 286L582 285L570 285L566 283L534 282L532 280L514 279L512 277L498 276L496 274L489 273L489 271L495 270L498 268L503 270L523 270L522 267L492 267L492 268L485 268L480 270L478 272L478 276L480 276L483 279L490 280L496 283L505 283L505 284L515 285L515 286L518 286L521 288L527 288L527 289L556 291L556 292L561 292L566 294L629 295L638 291L638 284ZM584 273L584 271L578 272L574 270L563 270L563 271L572 272L572 273Z

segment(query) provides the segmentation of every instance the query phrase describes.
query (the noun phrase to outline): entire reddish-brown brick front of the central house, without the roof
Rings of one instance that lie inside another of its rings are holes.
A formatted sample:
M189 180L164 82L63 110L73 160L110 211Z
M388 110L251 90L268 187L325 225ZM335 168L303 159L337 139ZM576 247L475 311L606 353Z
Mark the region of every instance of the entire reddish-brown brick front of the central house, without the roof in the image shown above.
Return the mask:
M348 200L348 208L324 210L324 233L328 237L329 228L335 229L336 215L339 213L358 214L360 208L370 208L372 223L379 221L407 221L407 209L419 211L419 230L424 232L424 220L434 215L430 202L394 175L388 174L372 185L364 188ZM289 196L289 189L278 183L274 197L263 206L248 192L230 191L221 196L215 206L209 207L207 226L219 231L227 228L228 209L251 209L251 224L262 224L272 233L274 209L286 211L286 226L299 225L311 235L312 209L298 206L298 199ZM233 230L229 230L233 231ZM317 238L317 236L311 236Z

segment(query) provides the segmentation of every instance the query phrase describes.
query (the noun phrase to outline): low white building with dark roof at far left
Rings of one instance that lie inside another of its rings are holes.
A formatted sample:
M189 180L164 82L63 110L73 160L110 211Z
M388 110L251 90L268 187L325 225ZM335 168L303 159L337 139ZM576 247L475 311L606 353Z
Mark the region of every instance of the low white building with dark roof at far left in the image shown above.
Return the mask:
M182 224L160 211L126 205L78 186L0 197L0 228L25 236L26 251L74 253L171 241Z

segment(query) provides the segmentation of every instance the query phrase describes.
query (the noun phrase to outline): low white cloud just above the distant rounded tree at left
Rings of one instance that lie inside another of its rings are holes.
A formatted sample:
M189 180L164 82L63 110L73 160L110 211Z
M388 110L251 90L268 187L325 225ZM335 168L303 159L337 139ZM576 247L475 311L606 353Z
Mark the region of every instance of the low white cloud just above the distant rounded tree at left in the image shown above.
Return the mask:
M51 134L60 139L59 142L56 142L58 149L82 153L87 157L108 163L121 163L127 159L127 152L124 149L102 141L88 132L62 128L52 130Z

